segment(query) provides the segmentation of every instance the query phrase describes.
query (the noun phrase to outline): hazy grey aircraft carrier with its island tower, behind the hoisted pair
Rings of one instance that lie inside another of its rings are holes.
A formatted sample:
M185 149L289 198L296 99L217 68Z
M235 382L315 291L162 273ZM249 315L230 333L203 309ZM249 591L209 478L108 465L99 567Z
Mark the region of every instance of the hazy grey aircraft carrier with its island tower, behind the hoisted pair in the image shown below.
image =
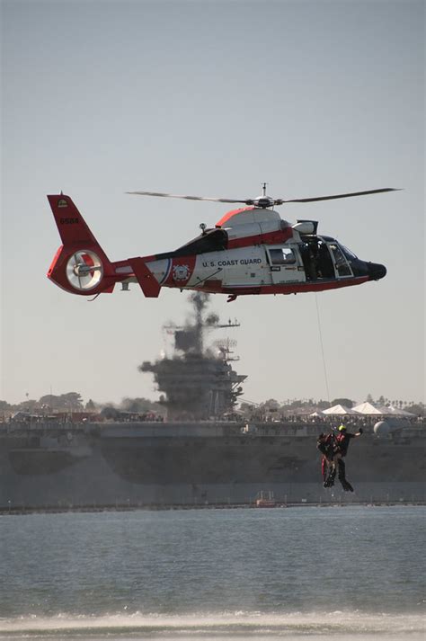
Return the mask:
M139 368L154 375L166 421L0 423L3 512L255 504L261 495L278 504L424 502L424 422L366 419L347 458L355 493L324 489L316 437L328 426L238 418L246 377L233 369L235 345L204 344L210 331L238 324L209 315L205 294L192 303L191 320L166 328L173 355Z

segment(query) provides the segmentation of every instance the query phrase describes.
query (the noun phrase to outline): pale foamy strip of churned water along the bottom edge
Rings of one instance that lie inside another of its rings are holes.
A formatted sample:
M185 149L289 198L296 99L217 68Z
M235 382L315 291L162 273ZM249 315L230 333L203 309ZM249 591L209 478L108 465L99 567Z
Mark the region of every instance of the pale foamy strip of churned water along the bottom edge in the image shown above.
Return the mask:
M419 614L367 614L334 610L330 612L271 613L235 612L164 615L111 614L36 615L0 619L0 638L111 637L184 639L208 638L324 638L359 639L386 637L414 641L423 638L425 619ZM172 637L173 635L173 637Z

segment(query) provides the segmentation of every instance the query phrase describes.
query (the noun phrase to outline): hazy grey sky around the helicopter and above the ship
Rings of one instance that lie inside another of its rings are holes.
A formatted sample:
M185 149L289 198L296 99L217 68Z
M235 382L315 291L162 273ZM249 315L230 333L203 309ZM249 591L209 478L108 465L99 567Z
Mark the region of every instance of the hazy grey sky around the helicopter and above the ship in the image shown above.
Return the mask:
M93 303L45 276L70 195L111 260L175 249L247 198L401 187L293 204L386 279L317 295L331 398L424 395L424 4L31 2L2 8L0 398L156 398L141 361L189 294ZM315 295L212 297L241 328L244 396L326 398ZM218 338L218 334L215 338Z

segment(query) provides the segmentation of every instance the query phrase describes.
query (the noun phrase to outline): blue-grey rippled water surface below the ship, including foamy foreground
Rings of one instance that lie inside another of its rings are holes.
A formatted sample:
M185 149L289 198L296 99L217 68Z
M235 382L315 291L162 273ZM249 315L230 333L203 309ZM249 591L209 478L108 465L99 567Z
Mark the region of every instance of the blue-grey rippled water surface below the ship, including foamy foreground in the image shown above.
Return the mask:
M0 518L0 637L411 638L423 507Z

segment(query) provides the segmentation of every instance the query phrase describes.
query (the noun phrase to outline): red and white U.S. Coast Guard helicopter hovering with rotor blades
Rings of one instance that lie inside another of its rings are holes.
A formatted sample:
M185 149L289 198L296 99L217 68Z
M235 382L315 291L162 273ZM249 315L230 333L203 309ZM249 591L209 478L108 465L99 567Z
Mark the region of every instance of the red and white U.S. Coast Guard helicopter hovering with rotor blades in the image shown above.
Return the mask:
M59 236L59 247L48 277L60 288L81 296L111 293L117 283L129 289L138 282L146 297L163 287L199 289L226 294L228 301L248 294L297 294L360 285L379 280L386 267L359 260L331 236L318 236L315 220L290 224L274 209L288 202L314 202L397 191L391 188L300 198L234 200L131 191L142 196L242 203L220 218L215 227L200 225L201 234L178 249L111 262L73 200L60 193L48 196Z

